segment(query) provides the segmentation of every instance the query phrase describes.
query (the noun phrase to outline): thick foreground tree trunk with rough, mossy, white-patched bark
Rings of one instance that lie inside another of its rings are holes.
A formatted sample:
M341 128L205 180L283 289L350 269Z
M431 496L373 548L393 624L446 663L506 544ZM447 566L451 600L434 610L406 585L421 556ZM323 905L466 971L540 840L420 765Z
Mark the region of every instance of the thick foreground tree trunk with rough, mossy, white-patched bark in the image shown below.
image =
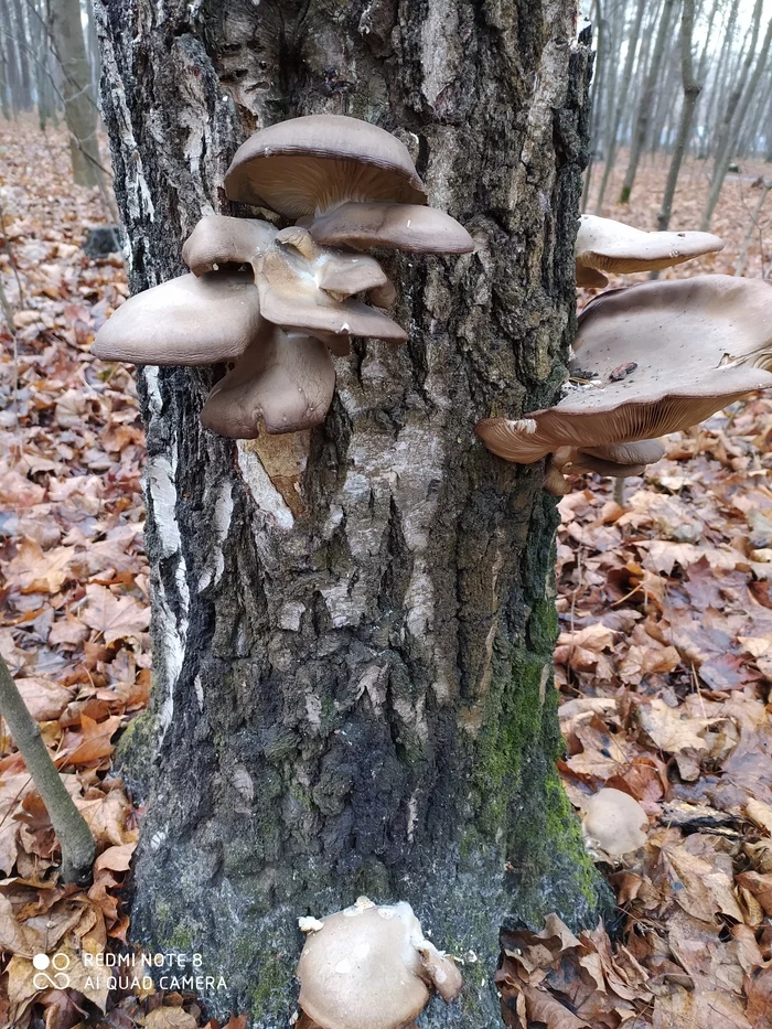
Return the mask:
M125 744L149 796L132 932L204 955L286 1025L296 918L408 900L497 1022L498 925L597 914L554 771L557 522L539 468L475 421L551 403L573 331L588 50L568 0L105 0L105 118L135 290L225 201L256 127L317 111L397 132L460 258L396 257L410 341L355 344L289 506L197 421L213 378L140 374L156 688Z

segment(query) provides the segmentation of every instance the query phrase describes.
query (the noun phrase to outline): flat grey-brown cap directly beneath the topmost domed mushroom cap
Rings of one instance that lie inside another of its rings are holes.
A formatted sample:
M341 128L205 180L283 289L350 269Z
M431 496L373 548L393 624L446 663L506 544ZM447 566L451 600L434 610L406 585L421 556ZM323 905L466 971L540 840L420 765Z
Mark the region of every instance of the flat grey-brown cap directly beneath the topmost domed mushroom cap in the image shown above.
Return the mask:
M474 240L455 218L415 204L341 204L314 218L309 232L325 246L358 250L389 246L416 254L470 254Z

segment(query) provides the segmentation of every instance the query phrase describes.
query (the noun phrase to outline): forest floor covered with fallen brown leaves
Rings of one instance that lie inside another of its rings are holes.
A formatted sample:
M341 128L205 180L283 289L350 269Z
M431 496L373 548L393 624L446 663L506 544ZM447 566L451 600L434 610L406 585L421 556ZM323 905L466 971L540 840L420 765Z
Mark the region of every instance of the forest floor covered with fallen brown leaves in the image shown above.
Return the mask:
M698 227L707 171L687 163L673 227ZM753 182L771 171L728 178L714 225L725 250L666 275L731 274ZM633 202L603 213L653 227L665 174L645 165ZM126 940L141 812L110 768L150 684L138 405L131 375L89 355L126 276L116 255L82 249L105 207L69 182L61 131L0 124L0 205L13 319L0 330L0 652L98 848L89 889L57 881L53 830L0 731L0 1026L194 1029L206 1020L193 995L108 996L85 957ZM770 269L771 211L772 199L749 276ZM564 780L580 810L602 786L629 793L648 830L624 864L602 865L623 913L613 941L555 918L518 935L498 975L512 1027L772 1026L771 442L772 400L754 397L669 438L624 506L594 476L560 502ZM55 952L69 989L46 988L32 963Z

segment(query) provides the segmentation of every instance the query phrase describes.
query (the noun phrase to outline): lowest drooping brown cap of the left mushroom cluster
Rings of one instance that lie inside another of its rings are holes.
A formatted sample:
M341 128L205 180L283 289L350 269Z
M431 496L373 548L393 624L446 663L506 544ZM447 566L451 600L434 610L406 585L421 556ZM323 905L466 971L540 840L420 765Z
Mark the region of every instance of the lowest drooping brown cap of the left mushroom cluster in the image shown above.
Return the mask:
M324 421L334 389L335 368L323 343L262 322L233 371L212 389L201 421L230 439L300 432Z

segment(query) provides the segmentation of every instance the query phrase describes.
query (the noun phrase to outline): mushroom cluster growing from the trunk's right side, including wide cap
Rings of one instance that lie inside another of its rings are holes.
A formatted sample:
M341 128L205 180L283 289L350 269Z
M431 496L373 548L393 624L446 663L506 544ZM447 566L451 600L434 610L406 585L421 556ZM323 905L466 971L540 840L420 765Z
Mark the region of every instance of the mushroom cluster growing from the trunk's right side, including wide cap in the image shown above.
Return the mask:
M658 270L721 249L709 233L642 233L582 216L577 282L602 271ZM602 280L602 281L601 281ZM571 378L555 407L476 426L489 450L530 464L549 458L545 489L565 473L625 478L660 460L657 437L687 429L754 389L772 387L772 288L706 275L611 289L581 311Z

